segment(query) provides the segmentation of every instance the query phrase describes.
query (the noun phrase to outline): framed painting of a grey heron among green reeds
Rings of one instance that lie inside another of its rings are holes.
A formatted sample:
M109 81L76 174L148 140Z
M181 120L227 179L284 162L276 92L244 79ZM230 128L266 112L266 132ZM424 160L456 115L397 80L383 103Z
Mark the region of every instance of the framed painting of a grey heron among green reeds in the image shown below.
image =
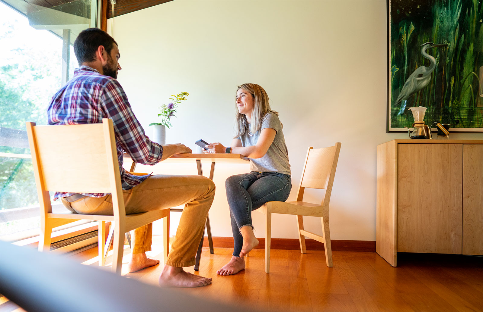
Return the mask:
M482 2L388 0L387 132L412 128L413 106L429 126L483 132Z

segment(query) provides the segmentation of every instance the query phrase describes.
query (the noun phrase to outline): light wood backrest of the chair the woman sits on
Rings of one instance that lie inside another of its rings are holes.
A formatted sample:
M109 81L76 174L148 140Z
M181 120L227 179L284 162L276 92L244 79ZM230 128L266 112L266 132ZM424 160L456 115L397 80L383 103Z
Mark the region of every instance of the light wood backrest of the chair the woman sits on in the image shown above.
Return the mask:
M313 147L309 147L302 169L297 201L302 201L306 187L325 189L326 194L322 204L328 206L340 151L341 143L336 143L334 146L325 148L314 149Z

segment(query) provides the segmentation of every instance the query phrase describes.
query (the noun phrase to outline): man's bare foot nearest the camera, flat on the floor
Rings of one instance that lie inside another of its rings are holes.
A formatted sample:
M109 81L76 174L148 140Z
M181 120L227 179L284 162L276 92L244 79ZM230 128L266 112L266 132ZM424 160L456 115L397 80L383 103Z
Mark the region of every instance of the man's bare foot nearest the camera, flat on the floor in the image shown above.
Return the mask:
M195 275L185 272L183 268L165 265L158 282L161 287L200 287L210 285L211 277Z

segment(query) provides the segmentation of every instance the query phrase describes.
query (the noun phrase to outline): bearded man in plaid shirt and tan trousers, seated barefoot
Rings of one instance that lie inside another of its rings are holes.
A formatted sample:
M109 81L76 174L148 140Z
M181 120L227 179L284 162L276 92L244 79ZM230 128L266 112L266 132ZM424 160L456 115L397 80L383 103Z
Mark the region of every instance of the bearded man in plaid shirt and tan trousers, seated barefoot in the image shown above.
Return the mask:
M80 68L52 98L47 109L49 124L100 123L102 118L112 119L126 213L185 204L170 254L159 276L159 285L197 287L211 284L211 278L187 273L183 267L195 264L196 250L213 202L213 182L202 176L138 176L123 169L124 152L137 163L154 165L174 154L191 153L191 150L181 143L159 145L146 137L116 80L121 70L120 53L111 36L99 28L85 29L75 39L74 52ZM66 144L67 148L69 144L85 144L59 143ZM64 206L77 213L113 214L110 194L57 192L54 197L61 198ZM151 236L152 224L135 230L129 272L159 263L159 260L146 257L145 252L151 250Z

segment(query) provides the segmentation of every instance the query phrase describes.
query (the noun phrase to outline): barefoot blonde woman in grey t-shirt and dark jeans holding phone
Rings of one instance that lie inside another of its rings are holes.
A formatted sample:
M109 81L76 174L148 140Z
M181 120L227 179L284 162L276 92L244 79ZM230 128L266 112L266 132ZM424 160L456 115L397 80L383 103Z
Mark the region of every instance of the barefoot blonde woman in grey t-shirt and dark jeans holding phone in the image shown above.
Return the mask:
M231 147L206 145L205 153L234 153L250 158L250 173L227 179L234 250L231 260L216 273L236 274L245 268L244 256L258 245L253 233L252 210L269 201L285 201L292 188L287 146L278 113L272 111L267 92L257 84L238 87L235 136Z

